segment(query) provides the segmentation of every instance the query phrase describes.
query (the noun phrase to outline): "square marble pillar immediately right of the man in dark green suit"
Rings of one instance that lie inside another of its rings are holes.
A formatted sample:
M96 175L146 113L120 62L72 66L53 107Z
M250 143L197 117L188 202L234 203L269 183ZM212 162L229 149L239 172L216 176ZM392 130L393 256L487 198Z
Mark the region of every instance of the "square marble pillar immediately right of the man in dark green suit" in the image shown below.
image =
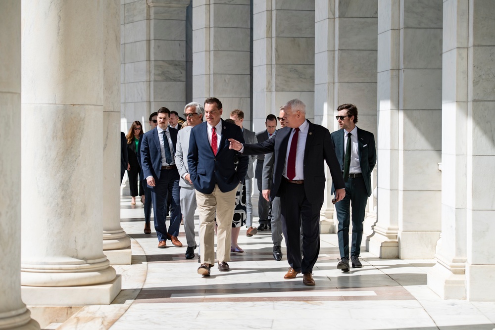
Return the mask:
M441 227L442 1L379 1L381 257L433 258ZM396 248L397 246L397 248Z

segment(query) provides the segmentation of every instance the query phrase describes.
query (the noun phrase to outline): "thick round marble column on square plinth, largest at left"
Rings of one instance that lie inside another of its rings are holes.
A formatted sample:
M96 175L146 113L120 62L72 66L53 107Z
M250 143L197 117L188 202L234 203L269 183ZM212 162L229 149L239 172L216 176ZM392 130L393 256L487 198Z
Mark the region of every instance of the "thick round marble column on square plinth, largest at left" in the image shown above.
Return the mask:
M22 298L109 304L102 248L104 1L22 2Z

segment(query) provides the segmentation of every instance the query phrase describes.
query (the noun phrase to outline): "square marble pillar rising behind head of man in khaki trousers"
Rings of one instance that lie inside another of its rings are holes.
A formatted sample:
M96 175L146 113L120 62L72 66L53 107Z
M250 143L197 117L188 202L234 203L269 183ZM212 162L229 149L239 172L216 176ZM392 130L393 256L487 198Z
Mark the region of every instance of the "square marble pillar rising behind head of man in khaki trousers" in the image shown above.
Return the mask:
M234 109L250 118L250 1L193 1L193 100L222 101L223 118Z

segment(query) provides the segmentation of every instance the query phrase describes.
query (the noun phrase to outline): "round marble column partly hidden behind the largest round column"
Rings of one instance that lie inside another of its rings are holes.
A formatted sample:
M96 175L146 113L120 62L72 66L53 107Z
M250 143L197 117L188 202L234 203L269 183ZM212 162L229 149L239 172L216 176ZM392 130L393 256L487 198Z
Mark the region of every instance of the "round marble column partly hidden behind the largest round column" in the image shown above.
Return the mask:
M103 5L103 251L110 264L131 264L131 239L120 227L120 1Z

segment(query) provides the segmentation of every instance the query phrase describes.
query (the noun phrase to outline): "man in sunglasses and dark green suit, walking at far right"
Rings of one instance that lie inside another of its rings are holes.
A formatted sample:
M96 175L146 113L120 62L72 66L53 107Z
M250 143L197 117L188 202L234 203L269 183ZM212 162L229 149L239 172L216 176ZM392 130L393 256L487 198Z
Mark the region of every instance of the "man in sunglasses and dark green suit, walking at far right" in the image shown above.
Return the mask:
M376 164L376 151L373 133L361 130L356 126L357 107L354 104L342 104L337 108L337 111L336 118L341 129L332 133L332 141L346 182L346 196L335 204L337 219L339 220L337 234L341 256L337 268L348 272L349 207L352 203L350 260L352 268L361 268L359 253L361 252L366 203L371 195L371 172ZM332 186L332 192L333 188Z

